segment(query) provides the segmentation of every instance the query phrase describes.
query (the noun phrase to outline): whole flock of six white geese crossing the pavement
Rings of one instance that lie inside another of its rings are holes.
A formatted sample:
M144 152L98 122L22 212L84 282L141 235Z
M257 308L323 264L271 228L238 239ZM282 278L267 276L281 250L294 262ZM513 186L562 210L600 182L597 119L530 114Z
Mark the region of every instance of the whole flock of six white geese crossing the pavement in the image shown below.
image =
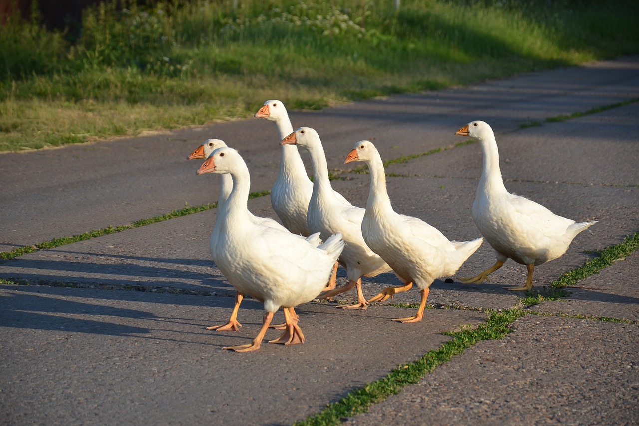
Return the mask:
M450 241L421 219L399 214L392 208L383 162L370 141L358 141L344 161L362 161L369 168L371 186L364 209L352 205L331 187L326 155L316 130L300 127L293 131L279 100L267 100L255 117L272 122L277 129L281 161L271 203L283 225L249 212L249 169L240 154L224 141L207 139L188 157L206 159L197 175L222 175L210 249L215 265L236 290L228 322L206 328L237 331L242 326L237 316L245 294L261 301L265 310L262 327L251 343L223 349L255 351L268 327L284 330L270 343L304 343L295 306L316 298L330 300L353 287L357 289L357 303L341 308L366 309L369 303L385 301L415 284L420 291L417 313L394 320L417 322L422 319L431 283L454 275L484 239L495 249L497 262L477 276L460 281L482 283L511 258L526 265L528 275L525 285L508 289L530 290L534 266L563 255L574 237L595 223L575 223L509 193L499 169L495 135L484 122L468 123L455 133L478 139L484 159L472 207L473 220L482 237L458 242ZM298 146L310 155L312 182ZM335 288L338 264L346 269L348 283ZM402 285L387 287L366 299L362 276L389 271ZM273 314L279 308L285 322L272 325Z

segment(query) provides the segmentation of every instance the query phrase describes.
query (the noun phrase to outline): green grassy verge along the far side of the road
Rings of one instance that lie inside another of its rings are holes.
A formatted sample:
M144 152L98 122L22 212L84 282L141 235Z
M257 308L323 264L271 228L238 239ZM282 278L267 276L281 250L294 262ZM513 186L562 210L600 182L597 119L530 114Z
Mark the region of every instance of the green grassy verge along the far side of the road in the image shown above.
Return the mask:
M243 118L266 99L320 109L639 52L631 0L113 4L86 10L73 37L17 17L0 27L0 150Z

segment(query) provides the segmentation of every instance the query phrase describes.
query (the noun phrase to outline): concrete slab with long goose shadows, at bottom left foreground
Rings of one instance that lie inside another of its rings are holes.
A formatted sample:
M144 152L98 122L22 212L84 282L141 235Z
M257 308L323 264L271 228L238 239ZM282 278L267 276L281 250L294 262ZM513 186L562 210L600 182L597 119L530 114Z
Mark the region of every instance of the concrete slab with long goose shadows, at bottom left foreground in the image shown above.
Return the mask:
M221 348L254 338L261 303L242 303L240 331L215 332L230 297L0 286L0 300L2 424L290 424L485 319L431 309L399 324L413 308L307 303L303 345L240 354Z

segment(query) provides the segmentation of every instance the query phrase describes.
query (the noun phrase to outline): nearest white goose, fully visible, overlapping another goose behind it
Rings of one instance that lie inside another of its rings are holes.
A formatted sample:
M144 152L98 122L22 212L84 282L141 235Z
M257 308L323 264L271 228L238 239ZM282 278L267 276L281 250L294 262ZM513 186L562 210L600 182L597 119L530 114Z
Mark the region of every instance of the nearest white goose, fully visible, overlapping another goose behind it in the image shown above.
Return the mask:
M286 329L272 343L304 343L293 307L316 297L325 287L335 260L344 248L341 235L331 235L319 247L288 230L264 225L249 209L249 170L233 148L218 148L196 172L229 173L233 189L219 210L211 253L215 264L239 294L263 302L266 313L258 335L246 345L224 347L237 352L259 349L273 313L284 310Z

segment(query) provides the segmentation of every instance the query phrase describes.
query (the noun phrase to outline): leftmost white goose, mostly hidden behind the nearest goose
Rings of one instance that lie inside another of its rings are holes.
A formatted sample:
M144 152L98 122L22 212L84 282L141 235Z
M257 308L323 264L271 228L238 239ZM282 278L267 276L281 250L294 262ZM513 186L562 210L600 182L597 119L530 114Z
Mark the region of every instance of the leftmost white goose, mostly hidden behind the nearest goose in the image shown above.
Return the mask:
M221 139L206 139L204 143L198 146L190 155L187 157L188 160L194 159L207 159L209 155L217 148L222 148L223 146L227 146L224 141ZM217 199L217 209L218 211L224 205L224 202L227 198L229 198L229 194L231 194L231 189L233 189L233 180L229 173L224 173L221 176L222 180L220 181L220 194ZM258 217L253 216L254 220L261 222L265 226L270 226L272 228L278 228L281 230L286 230L284 226L280 225L270 217ZM319 238L319 233L314 233L309 237L305 238L313 246L317 247L321 244L321 239ZM231 312L231 317L229 318L226 324L222 324L220 326L210 326L206 327L207 330L217 330L217 331L238 331L239 327L242 327L242 324L238 322L237 315L238 310L240 309L240 304L242 303L242 299L244 298L244 294L236 292L235 293L235 304L233 306L233 311ZM294 312L294 311L293 311ZM295 315L297 318L297 315ZM284 329L286 324L272 324L270 327L275 329Z

